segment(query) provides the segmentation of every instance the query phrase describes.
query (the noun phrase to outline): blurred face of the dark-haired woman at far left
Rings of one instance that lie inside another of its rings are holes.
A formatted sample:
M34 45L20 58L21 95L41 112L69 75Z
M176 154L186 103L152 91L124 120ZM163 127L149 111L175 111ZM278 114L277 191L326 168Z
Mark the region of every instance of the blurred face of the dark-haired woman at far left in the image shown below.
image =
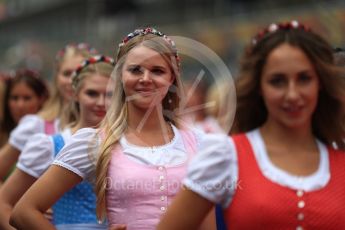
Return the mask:
M35 114L42 106L43 99L25 83L13 86L8 100L8 107L15 123L26 114Z

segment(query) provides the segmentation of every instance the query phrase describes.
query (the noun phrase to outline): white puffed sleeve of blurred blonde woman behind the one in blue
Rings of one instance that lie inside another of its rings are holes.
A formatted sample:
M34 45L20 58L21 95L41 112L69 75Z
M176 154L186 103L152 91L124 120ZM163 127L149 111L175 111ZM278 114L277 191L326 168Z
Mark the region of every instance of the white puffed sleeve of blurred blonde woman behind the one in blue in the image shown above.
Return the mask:
M37 133L44 133L43 119L37 115L26 115L11 132L9 143L19 151L23 151L28 139Z

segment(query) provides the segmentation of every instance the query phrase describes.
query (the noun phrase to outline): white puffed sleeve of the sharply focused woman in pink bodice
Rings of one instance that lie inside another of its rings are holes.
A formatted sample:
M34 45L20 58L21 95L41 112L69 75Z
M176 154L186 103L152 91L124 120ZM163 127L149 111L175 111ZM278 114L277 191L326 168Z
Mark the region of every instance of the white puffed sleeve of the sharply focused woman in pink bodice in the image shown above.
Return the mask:
M61 149L53 164L66 168L81 178L94 182L96 154L100 138L96 129L84 128L72 135L71 140Z

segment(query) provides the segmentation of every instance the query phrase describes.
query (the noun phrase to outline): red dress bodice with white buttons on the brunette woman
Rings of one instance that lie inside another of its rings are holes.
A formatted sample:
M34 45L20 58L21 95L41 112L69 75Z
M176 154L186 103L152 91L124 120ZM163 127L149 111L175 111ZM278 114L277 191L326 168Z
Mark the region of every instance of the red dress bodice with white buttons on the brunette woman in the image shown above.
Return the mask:
M225 210L228 229L345 229L345 153L328 148L331 178L315 191L293 190L267 179L244 134L233 137L238 186Z

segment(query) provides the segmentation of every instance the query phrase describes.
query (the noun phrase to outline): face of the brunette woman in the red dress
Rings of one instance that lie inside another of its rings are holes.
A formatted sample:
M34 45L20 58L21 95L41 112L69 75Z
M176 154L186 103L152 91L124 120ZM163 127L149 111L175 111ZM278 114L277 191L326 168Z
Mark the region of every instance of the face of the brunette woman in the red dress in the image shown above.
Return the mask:
M311 128L320 82L301 49L286 43L273 49L263 68L260 87L268 111L266 123Z

